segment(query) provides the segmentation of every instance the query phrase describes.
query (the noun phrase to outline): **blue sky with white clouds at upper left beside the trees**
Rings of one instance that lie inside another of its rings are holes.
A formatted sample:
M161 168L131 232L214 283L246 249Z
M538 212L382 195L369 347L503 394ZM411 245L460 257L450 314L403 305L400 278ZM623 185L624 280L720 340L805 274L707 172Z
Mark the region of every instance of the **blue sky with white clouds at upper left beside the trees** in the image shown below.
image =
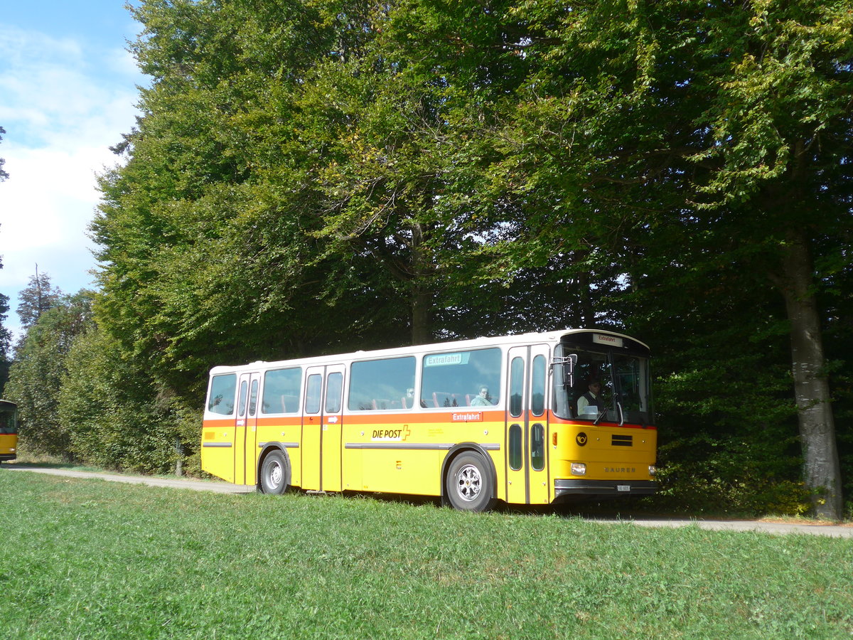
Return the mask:
M126 50L139 25L125 0L31 0L0 10L0 294L18 332L18 293L36 272L93 288L96 174L131 131L147 79Z

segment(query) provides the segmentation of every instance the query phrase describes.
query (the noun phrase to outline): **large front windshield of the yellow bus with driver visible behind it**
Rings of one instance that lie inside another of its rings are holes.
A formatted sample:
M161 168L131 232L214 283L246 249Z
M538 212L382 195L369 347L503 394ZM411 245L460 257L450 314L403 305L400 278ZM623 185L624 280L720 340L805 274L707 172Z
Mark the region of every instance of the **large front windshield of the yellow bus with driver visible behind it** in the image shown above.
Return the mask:
M557 362L577 355L571 386L557 364L554 410L563 418L591 422L653 423L648 358L608 346L563 342Z

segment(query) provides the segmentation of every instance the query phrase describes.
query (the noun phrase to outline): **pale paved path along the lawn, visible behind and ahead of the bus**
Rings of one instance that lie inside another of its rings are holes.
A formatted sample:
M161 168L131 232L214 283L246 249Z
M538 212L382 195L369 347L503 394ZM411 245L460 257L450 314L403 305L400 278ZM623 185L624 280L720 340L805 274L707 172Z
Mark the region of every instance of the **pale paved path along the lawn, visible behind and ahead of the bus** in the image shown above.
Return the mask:
M171 486L181 489L194 489L195 491L218 492L218 493L251 493L255 491L253 486L232 485L219 480L183 480L182 478L154 478L141 475L105 474L90 471L74 471L61 468L40 467L17 467L14 464L4 464L3 471L32 471L38 474L64 475L73 478L96 478L98 480L112 480L113 482L127 482L133 485L148 486ZM755 531L763 533L804 533L815 536L829 536L832 538L853 538L853 526L836 525L809 525L790 522L762 522L762 521L731 521L731 520L696 520L692 518L659 518L625 520L618 518L591 518L591 521L630 523L638 527L689 527L696 525L701 529L713 531Z

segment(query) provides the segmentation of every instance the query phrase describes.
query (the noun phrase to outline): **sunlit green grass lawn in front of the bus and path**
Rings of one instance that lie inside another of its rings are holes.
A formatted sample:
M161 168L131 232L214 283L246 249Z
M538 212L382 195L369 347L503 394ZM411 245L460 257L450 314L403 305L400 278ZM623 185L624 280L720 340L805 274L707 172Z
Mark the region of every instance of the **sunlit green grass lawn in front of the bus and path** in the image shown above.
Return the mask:
M10 638L847 638L850 539L4 472Z

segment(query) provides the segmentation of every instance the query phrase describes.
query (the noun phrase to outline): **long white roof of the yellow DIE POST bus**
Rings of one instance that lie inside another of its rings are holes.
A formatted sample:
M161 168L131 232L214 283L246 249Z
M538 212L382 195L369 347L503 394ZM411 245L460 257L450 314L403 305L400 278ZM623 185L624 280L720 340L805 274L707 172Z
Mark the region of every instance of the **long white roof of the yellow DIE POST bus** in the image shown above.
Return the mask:
M326 356L312 356L308 358L292 358L288 360L275 360L271 362L266 362L263 360L259 360L253 363L247 364L237 364L237 365L219 365L213 367L210 371L210 375L216 375L225 372L232 371L242 371L242 370L255 370L258 368L270 368L276 366L287 366L287 365L315 365L315 364L338 364L350 362L351 360L362 360L362 359L371 359L371 358L388 358L392 356L408 356L413 353L421 353L421 352L442 352L442 351L454 351L456 349L472 349L477 347L487 347L487 346L499 346L499 345L526 345L526 344L536 344L542 342L554 343L558 342L560 338L566 335L572 334L602 334L602 335L612 335L618 338L625 338L627 340L632 340L635 343L642 345L648 349L648 346L641 342L640 340L636 340L632 338L630 335L619 334L615 331L608 331L606 329L557 329L554 331L547 331L541 333L527 333L527 334L514 334L514 335L497 335L489 338L473 338L471 340L448 340L445 342L433 342L427 345L411 345L411 346L397 346L392 349L378 349L371 351L357 351L350 353L334 353Z

